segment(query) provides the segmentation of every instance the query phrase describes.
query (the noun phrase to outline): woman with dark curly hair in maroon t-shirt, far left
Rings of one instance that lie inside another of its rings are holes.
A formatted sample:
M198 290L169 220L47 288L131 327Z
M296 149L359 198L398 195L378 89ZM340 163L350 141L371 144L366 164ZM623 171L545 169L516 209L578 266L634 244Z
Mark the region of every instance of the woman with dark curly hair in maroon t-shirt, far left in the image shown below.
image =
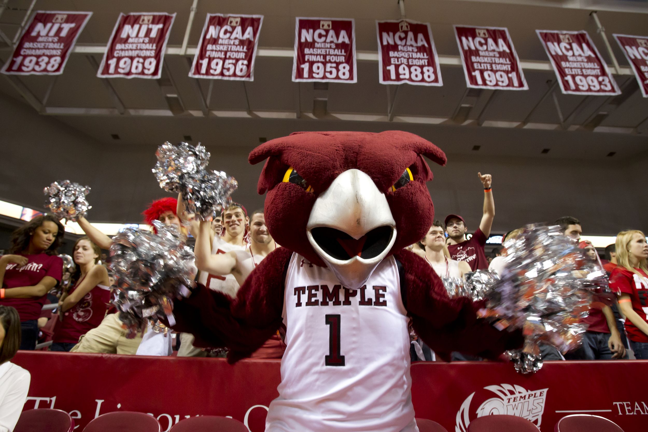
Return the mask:
M63 236L63 225L54 216L37 216L12 233L11 255L0 258L0 304L18 311L21 350L36 347L38 318L47 293L61 280L63 260L56 249Z

